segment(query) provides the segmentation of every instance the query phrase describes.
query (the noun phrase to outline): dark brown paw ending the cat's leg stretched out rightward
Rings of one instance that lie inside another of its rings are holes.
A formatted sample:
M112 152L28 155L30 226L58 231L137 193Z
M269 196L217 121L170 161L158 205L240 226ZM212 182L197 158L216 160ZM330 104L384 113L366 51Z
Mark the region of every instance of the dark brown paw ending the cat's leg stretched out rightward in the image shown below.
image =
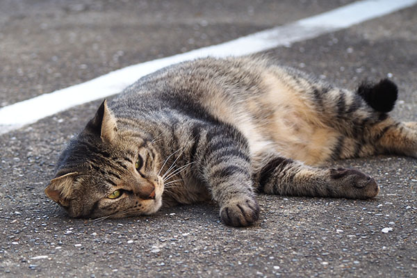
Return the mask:
M375 179L354 169L330 169L330 179L341 188L341 196L352 199L369 199L379 193Z

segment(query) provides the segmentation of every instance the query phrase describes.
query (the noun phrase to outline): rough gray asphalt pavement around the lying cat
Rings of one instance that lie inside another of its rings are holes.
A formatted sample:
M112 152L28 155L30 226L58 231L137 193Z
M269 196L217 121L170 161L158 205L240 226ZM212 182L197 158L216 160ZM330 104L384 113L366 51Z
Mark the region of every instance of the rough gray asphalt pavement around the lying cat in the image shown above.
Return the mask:
M350 2L3 0L0 106ZM393 115L417 120L416 15L414 6L268 55L346 88L391 76L400 88ZM379 197L260 195L261 220L245 229L220 223L215 204L124 220L67 218L43 189L99 102L0 136L1 277L417 275L412 158L338 161L373 175Z

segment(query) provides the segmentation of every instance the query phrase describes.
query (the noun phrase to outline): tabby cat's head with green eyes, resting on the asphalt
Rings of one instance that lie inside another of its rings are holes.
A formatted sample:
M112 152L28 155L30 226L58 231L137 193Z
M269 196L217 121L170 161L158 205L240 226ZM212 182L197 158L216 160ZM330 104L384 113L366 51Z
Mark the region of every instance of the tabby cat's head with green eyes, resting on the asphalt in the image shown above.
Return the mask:
M161 207L160 157L150 138L121 132L106 100L60 155L45 194L74 218L147 215Z

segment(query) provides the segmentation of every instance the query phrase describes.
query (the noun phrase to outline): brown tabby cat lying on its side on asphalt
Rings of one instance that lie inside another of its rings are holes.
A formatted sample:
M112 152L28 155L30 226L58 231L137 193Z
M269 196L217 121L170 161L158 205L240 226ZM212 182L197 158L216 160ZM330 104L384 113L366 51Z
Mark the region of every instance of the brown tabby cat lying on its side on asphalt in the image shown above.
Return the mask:
M321 167L375 154L417 157L417 122L387 114L389 79L356 91L270 58L201 58L106 100L58 158L47 197L74 218L150 215L214 200L224 224L259 219L256 193L368 199L375 179Z

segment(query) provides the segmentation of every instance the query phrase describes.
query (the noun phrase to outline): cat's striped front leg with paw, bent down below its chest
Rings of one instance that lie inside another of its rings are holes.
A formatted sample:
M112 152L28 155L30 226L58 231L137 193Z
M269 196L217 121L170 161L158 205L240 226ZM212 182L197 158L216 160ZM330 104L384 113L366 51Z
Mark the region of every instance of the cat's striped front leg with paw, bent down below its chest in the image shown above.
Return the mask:
M246 139L230 126L220 126L199 134L194 161L220 206L225 224L243 227L259 219L252 181L252 165Z

